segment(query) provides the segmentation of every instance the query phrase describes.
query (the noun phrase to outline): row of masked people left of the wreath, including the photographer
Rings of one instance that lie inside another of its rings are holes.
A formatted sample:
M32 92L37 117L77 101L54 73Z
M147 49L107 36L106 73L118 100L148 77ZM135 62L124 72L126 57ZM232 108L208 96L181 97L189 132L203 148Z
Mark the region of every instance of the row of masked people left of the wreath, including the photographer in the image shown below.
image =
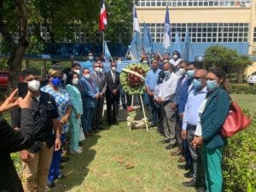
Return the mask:
M26 138L20 136L20 147L7 148L8 143L4 142L6 146L2 144L2 137L6 134L1 132L0 142L1 154L8 155L9 163L11 162L9 152L21 150L22 186L19 177L16 177L15 167L12 165L11 172L8 171L9 174L4 176L9 178L1 179L1 191L15 192L24 189L28 192L36 189L40 192L45 191L47 185L49 188L55 187L56 178L66 177L61 173L61 162L65 160L61 154L62 146L67 142L67 132L70 135L70 153L81 154L83 148L79 147L79 141L83 140L83 137L91 137L91 132L103 129L102 113L105 97L108 125L118 124L116 116L119 102L119 73L116 72L115 61L112 61L110 65L111 71L108 73L103 73L100 60L93 62L92 70L89 67L81 68L77 61L73 61L70 70L65 73L53 67L49 69L48 82L43 86L33 69L26 68L21 72L23 83L26 83L28 88L26 97L31 99L27 108L31 110L24 110L22 102L12 103L13 106L9 108L12 108L13 137L17 137L19 133ZM15 93L11 95L9 101L14 101ZM0 112L9 108L3 108ZM29 115L32 119L24 118L24 111L26 114L31 113ZM8 127L5 123L4 121L4 127L1 124L0 131L2 128L5 131L4 128ZM33 131L27 131L28 126L32 126ZM23 141L28 140L27 134L30 134L29 142ZM32 145L28 146L29 143ZM9 145L12 144L9 143ZM3 177L2 168L3 171L7 171L2 161L1 158L1 178Z

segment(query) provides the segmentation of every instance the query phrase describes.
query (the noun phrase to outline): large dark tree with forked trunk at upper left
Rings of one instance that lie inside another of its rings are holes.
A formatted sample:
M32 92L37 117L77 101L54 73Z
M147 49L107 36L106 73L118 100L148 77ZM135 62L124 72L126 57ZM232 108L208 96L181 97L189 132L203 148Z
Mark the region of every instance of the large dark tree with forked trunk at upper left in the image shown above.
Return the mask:
M12 16L11 16L12 15ZM17 15L14 17L14 15ZM19 42L15 44L11 29L18 26ZM9 50L9 90L19 82L21 61L28 46L26 0L0 0L0 33Z

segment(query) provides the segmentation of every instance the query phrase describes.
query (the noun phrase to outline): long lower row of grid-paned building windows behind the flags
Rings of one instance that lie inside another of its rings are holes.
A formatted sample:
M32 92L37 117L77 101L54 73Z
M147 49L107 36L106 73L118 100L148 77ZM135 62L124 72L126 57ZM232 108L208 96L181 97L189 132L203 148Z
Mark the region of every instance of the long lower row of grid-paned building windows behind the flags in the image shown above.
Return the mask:
M162 42L165 32L164 24L148 23L153 42ZM191 42L247 42L248 23L172 23L171 38L175 42L175 33L179 32L181 41L184 41L186 29L189 30ZM256 42L256 27L254 41ZM143 32L143 25L141 26Z

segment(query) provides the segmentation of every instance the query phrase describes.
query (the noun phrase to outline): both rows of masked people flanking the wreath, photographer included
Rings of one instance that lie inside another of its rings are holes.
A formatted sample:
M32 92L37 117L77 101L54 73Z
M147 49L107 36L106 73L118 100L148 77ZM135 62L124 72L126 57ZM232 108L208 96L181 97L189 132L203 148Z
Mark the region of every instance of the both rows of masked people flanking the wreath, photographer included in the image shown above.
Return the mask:
M0 113L12 108L12 129L0 121L1 191L40 192L47 185L55 187L55 179L65 177L61 174L61 154L67 131L70 153L82 153L79 141L83 136L91 137L93 131L103 129L105 98L108 125L118 125L121 85L116 69L121 60L111 61L111 70L104 73L101 60L93 61L93 55L89 59L87 63L73 61L65 73L55 67L49 69L44 86L33 69L22 71L27 95L15 100L15 90L0 106ZM178 146L172 154L182 155L180 161L186 164L178 167L189 170L185 177L192 177L183 184L199 191L222 191L225 139L219 130L230 108L224 71L198 68L183 61L177 51L172 58L169 54L143 55L141 62L151 66L144 95L152 113L150 127L157 127L165 137L162 142L168 143L166 149ZM20 151L22 185L9 156L14 151Z

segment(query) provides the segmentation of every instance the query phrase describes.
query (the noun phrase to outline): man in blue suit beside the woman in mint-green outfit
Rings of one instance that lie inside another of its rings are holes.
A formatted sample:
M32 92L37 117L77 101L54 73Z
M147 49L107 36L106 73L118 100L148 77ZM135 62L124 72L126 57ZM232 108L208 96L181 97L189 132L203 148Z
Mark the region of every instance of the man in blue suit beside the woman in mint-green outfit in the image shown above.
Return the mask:
M99 88L96 86L95 81L91 78L90 70L84 68L83 78L81 79L84 86L84 136L90 137L92 131L92 120L96 113L96 102L101 94Z

